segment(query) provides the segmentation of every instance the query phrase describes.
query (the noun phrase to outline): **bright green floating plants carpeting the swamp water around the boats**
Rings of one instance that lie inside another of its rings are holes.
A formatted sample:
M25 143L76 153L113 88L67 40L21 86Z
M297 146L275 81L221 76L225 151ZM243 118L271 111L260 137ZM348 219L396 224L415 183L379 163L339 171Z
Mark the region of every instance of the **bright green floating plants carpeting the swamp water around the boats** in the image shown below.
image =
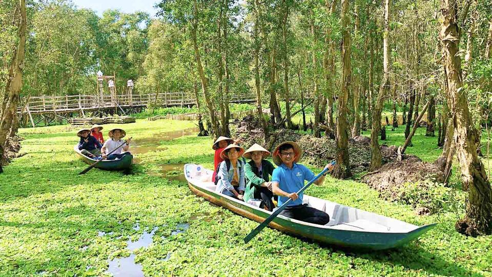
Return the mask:
M110 127L105 125L105 131ZM244 245L242 238L257 223L195 197L186 183L151 175L163 163L212 167L210 138L160 140L159 133L191 128L191 122L138 120L124 127L134 140L155 145L136 155L140 164L133 175L93 169L78 176L87 165L73 154L74 128L20 130L26 138L21 151L27 154L0 174L0 275L108 275L108 260L130 254L125 250L129 238L158 226L154 242L135 251L136 262L151 276L492 276L491 236L458 234L456 213L419 216L409 205L381 200L365 184L330 177L307 193L412 224L438 225L391 251L343 250L269 228L260 233L261 240ZM387 131L388 142L400 144L402 130ZM423 131L407 151L431 161L440 152L435 138ZM132 228L136 222L140 230ZM180 223L190 228L171 236ZM113 233L98 236L99 231Z

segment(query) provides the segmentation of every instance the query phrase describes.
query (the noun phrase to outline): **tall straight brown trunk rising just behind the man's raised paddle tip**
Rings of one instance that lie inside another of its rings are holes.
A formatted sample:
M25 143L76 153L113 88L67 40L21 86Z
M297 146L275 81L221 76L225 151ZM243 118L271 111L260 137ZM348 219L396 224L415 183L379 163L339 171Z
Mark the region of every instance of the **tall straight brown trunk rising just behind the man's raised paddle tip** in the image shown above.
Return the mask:
M342 0L341 22L342 22L342 80L341 90L338 96L338 117L337 117L337 165L333 176L343 179L352 176L350 171L350 161L348 157L348 128L347 128L347 102L348 90L350 89L351 65L350 65L350 32L348 23L348 0Z

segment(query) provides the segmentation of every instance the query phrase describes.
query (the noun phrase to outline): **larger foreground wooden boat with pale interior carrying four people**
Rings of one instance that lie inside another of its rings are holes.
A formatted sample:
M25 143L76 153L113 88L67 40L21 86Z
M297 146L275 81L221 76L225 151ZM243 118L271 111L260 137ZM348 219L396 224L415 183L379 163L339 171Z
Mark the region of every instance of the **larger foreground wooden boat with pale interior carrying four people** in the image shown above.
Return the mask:
M198 196L237 214L262 222L271 212L215 191L212 170L186 164L185 176L190 189ZM303 196L303 203L330 215L330 222L317 225L278 215L270 227L285 233L325 244L355 249L396 248L417 239L436 224L416 226L372 212L343 206L313 196Z

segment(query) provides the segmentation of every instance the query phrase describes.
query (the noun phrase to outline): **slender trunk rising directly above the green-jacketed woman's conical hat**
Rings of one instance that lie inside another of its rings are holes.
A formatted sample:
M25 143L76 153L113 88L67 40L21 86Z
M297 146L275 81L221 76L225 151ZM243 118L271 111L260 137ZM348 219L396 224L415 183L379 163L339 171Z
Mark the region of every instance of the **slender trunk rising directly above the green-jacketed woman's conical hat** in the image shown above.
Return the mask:
M256 105L257 105L257 111L258 111L258 117L261 122L261 125L263 127L263 134L264 134L264 140L265 143L268 142L269 139L269 133L268 133L268 126L267 122L265 121L265 118L263 116L263 109L261 107L261 90L260 90L260 66L258 62L258 56L260 53L260 39L259 39L259 23L260 23L260 7L259 7L259 1L255 0L255 29L254 29L254 36L255 36L255 53L254 53L254 61L255 61L255 88L256 88Z

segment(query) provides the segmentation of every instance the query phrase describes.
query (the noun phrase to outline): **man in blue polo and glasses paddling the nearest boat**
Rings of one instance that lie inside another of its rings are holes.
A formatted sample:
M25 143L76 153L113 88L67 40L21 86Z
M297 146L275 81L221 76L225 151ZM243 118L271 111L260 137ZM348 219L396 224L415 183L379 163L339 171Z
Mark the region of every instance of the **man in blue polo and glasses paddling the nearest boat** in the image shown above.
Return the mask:
M302 204L302 193L297 195L304 186L304 181L311 181L314 178L313 171L307 167L297 164L301 158L301 148L295 142L281 143L273 151L273 161L278 166L272 175L272 191L279 195L278 206L281 206L289 198L292 202L280 213L291 219L304 222L325 225L330 222L330 216L324 211L320 211L307 204ZM333 169L331 164L325 168L329 171ZM321 186L326 173L319 177L314 183Z

